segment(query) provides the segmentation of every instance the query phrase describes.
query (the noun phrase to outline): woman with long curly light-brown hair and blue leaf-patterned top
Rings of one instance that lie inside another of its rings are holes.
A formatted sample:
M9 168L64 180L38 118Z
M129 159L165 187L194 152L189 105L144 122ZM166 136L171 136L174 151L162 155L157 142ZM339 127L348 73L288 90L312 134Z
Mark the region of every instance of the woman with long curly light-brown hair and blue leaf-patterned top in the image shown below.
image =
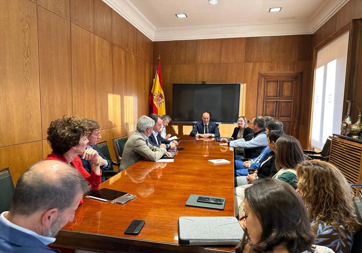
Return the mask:
M353 192L344 175L332 164L304 161L296 167L297 191L302 197L317 245L336 253L350 252L353 233L361 225L354 213Z

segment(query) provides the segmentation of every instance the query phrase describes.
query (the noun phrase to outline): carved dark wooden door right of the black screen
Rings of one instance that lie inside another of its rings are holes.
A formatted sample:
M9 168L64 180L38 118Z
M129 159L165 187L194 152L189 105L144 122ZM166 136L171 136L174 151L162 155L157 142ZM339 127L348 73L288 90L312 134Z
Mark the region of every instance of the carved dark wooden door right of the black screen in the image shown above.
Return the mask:
M284 124L284 132L299 137L303 72L259 72L257 115Z

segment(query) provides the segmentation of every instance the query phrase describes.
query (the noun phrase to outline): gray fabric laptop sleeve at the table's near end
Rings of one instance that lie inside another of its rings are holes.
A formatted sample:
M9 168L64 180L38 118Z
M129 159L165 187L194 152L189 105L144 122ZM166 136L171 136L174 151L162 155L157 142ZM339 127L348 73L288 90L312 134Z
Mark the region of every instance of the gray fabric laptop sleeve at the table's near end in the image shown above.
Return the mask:
M182 245L237 245L243 235L235 217L178 218L178 241Z

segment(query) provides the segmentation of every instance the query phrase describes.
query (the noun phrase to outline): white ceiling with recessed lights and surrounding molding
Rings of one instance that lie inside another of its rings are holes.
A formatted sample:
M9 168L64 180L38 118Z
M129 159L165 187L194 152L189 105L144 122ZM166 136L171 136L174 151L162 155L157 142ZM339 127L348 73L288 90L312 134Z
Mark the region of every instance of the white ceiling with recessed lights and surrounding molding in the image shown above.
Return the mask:
M153 41L310 34L348 0L103 0ZM269 13L269 8L282 7ZM177 18L186 13L187 18ZM294 20L279 18L295 17Z

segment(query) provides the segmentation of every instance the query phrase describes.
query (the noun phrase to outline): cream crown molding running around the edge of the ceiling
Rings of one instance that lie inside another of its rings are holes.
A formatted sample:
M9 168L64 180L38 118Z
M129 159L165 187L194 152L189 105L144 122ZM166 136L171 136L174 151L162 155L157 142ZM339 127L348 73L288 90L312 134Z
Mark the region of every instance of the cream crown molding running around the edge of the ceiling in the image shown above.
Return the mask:
M324 0L308 20L156 28L130 0L102 0L152 41L313 34L349 0Z

